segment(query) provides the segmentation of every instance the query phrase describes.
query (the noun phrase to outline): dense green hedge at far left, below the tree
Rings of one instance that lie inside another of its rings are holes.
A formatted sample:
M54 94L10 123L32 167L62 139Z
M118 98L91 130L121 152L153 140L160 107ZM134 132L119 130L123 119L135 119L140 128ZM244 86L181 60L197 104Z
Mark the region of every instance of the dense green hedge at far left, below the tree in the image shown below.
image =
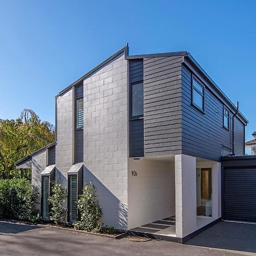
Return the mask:
M26 179L0 179L0 217L34 221L39 193Z

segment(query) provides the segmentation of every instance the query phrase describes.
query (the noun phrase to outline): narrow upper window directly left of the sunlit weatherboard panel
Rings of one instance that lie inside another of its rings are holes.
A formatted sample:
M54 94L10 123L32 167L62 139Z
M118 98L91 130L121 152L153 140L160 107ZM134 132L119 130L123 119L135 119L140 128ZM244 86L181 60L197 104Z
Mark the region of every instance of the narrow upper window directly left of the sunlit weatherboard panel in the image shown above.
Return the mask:
M143 117L143 82L131 85L131 117Z

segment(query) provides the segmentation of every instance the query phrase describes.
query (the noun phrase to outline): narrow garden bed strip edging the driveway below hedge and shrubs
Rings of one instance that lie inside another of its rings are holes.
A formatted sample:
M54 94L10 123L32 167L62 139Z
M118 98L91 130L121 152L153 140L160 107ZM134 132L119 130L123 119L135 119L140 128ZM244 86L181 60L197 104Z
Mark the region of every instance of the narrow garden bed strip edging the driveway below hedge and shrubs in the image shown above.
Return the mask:
M90 234L90 235L93 235L93 236L101 236L101 237L108 237L108 238L114 238L114 239L121 239L123 237L128 236L128 234L126 232L122 232L122 231L119 231L119 230L115 230L115 233L113 233L113 234L88 232L88 231L85 231L85 230L75 229L71 224L63 223L62 225L55 225L52 222L43 221L43 220L36 221L36 222L28 222L28 221L0 219L0 222L11 223L11 224L20 224L20 225L30 225L30 226L42 226L44 228L72 230L73 232L77 232L77 233L84 233L84 234Z

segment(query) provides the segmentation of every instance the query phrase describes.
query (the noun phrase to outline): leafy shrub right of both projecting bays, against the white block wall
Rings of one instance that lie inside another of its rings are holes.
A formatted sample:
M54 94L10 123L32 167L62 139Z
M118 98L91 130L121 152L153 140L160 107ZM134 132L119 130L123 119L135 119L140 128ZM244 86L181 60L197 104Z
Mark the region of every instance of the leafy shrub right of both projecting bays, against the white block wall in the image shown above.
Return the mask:
M96 197L94 185L86 183L77 201L77 209L81 215L81 220L75 222L75 228L94 232L101 231L100 218L102 210Z

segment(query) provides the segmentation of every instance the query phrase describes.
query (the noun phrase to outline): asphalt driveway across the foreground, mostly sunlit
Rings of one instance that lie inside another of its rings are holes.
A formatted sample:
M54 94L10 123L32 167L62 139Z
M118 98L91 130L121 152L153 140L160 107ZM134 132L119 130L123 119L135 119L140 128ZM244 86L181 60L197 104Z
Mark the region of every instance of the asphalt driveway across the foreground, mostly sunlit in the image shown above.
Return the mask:
M72 230L0 222L1 255L239 255L166 241L133 242L90 236Z

